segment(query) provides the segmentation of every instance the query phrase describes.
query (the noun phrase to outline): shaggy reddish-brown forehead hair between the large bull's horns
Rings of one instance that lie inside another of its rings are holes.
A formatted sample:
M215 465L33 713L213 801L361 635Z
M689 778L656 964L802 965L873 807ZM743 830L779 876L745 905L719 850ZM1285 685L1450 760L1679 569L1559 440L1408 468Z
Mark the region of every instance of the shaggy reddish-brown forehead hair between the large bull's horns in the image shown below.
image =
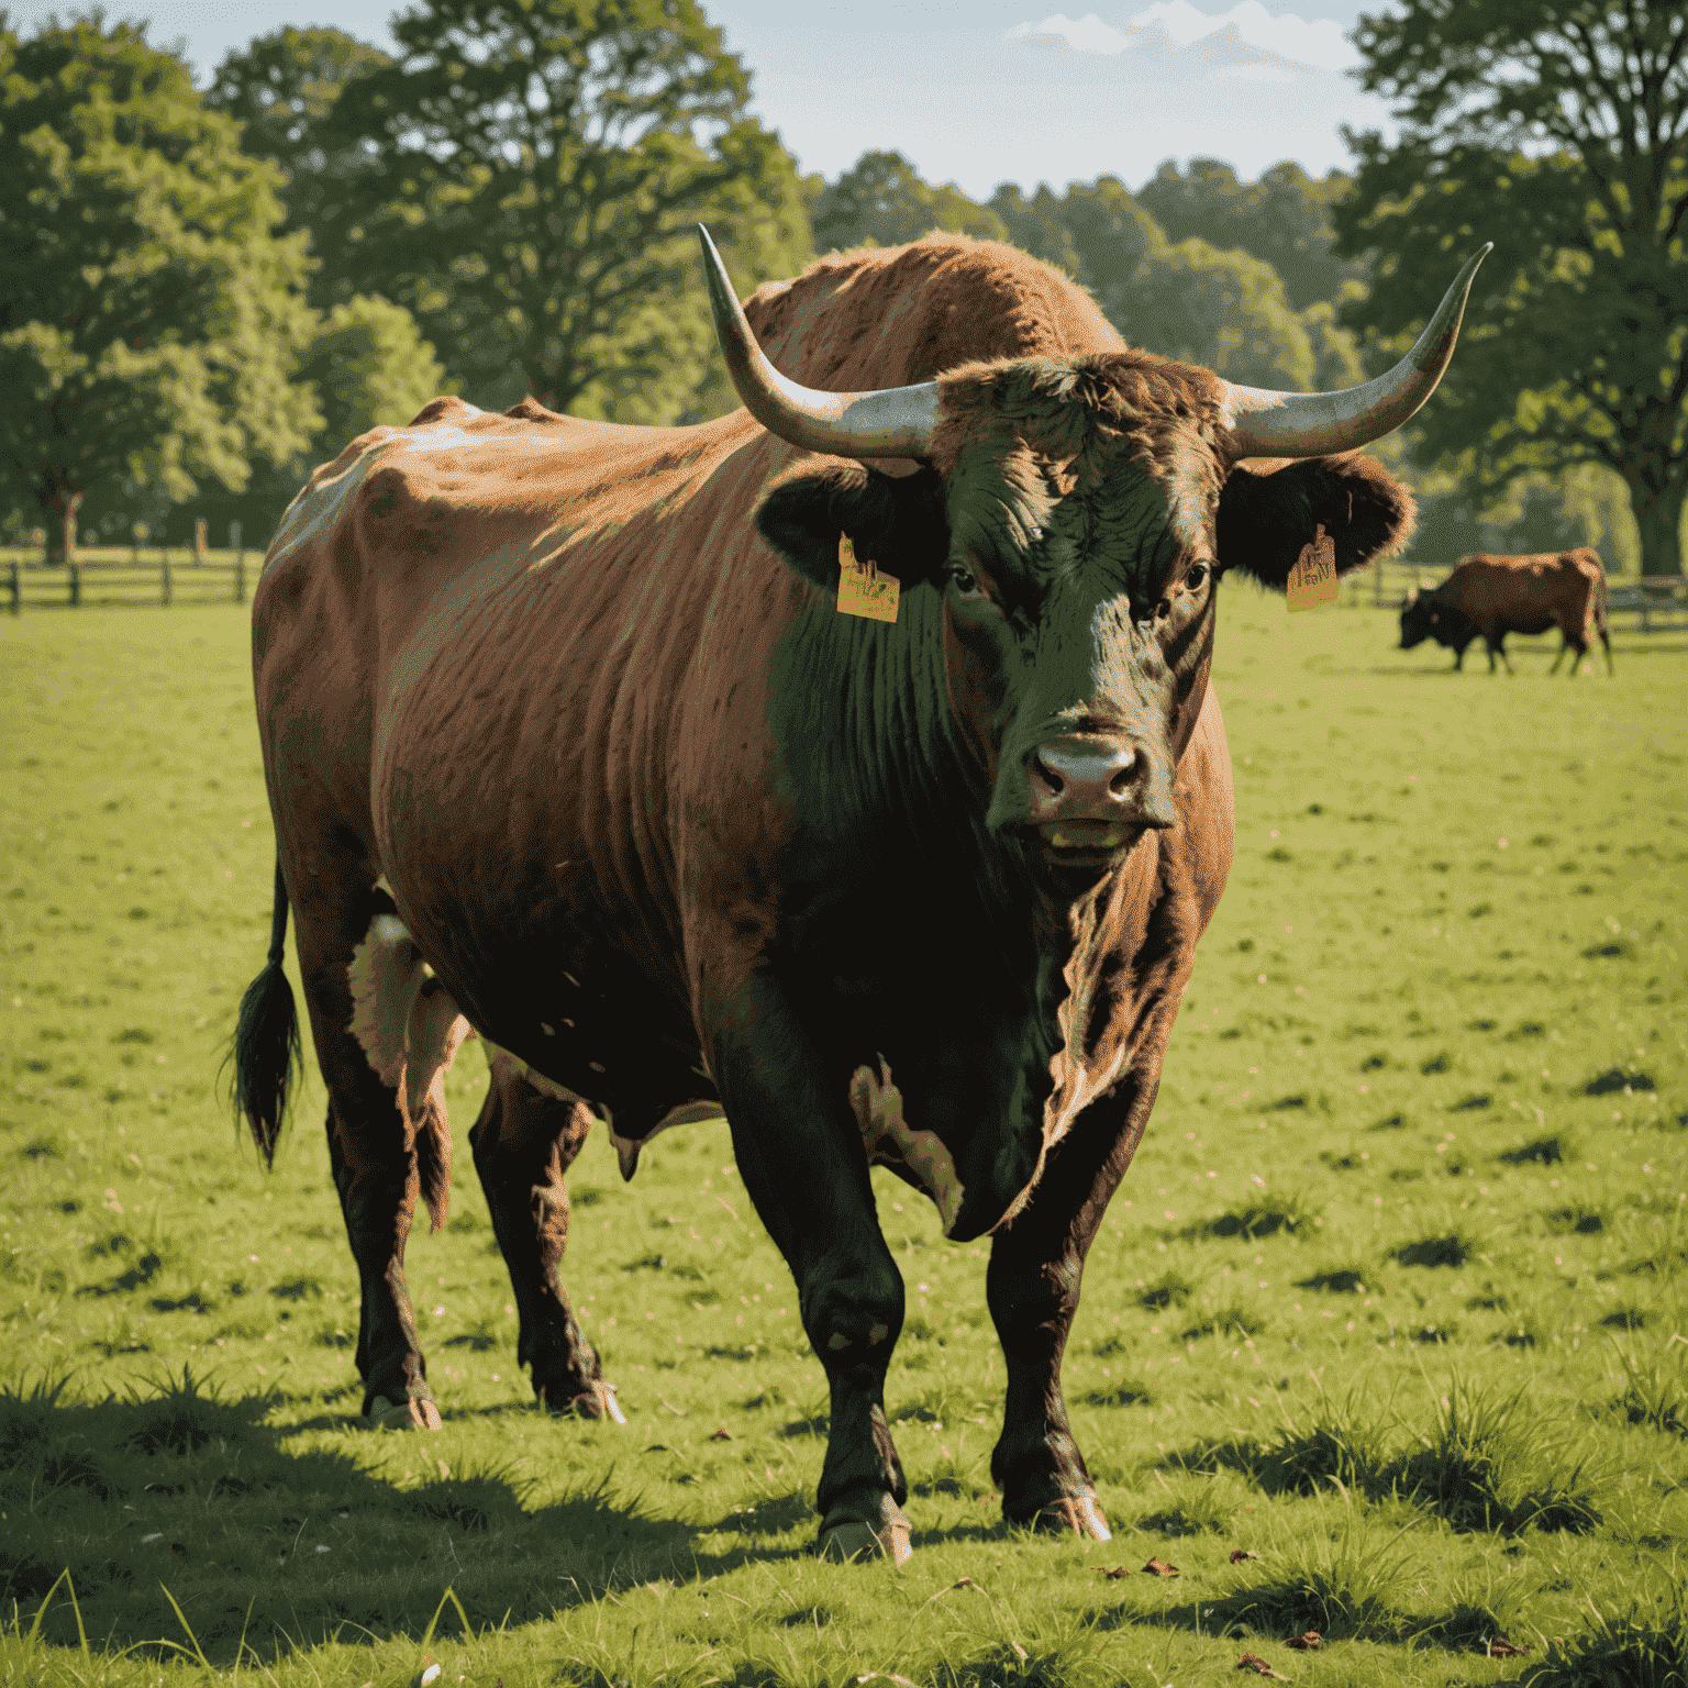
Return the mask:
M1031 542L1075 488L1104 493L1136 464L1165 491L1173 535L1193 545L1224 483L1224 383L1144 351L971 363L942 378L932 464L949 479L977 447L1003 476L999 518Z

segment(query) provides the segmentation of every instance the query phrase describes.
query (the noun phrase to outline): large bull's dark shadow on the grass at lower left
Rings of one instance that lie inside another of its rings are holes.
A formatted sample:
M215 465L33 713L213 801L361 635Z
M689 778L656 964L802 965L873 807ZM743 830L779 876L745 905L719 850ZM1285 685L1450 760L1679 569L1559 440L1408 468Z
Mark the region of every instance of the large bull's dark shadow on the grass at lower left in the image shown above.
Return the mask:
M429 1475L400 1485L356 1452L309 1445L344 1418L267 1423L277 1399L221 1398L191 1374L150 1399L0 1391L0 1615L27 1629L69 1570L89 1642L184 1642L167 1588L206 1656L226 1666L241 1634L265 1656L326 1636L420 1637L446 1588L476 1627L522 1624L611 1588L805 1551L766 1539L812 1516L795 1492L714 1524L665 1518L616 1480L606 1445L596 1487L535 1506L535 1482L496 1462L432 1475L439 1458L424 1435L407 1438L405 1463ZM503 1411L511 1425L535 1415ZM385 1447L407 1436L370 1435ZM447 1604L437 1632L459 1622ZM62 1583L42 1636L78 1644Z

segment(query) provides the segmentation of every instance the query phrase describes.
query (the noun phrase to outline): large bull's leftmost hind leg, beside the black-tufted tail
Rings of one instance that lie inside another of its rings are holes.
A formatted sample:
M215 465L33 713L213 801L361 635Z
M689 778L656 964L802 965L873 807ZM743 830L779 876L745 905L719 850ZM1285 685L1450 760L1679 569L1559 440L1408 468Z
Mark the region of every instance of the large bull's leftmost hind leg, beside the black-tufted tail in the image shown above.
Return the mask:
M375 1423L437 1430L439 1408L405 1285L405 1244L419 1197L436 1227L444 1219L451 1134L441 1070L456 1048L451 1025L461 1021L385 912L385 896L363 883L361 871L338 896L327 878L306 878L312 895L294 906L311 1030L329 1094L329 1160L363 1295L363 1413ZM417 1045L415 1058L407 1043Z

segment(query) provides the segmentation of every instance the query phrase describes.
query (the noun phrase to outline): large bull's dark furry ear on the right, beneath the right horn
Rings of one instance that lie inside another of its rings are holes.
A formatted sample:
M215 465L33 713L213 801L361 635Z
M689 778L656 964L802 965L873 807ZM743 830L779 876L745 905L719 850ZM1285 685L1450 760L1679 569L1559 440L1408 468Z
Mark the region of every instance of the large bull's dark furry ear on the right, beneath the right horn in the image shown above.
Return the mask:
M1347 574L1399 550L1415 515L1413 495L1376 457L1305 457L1264 473L1239 464L1219 495L1219 564L1281 592L1318 528Z

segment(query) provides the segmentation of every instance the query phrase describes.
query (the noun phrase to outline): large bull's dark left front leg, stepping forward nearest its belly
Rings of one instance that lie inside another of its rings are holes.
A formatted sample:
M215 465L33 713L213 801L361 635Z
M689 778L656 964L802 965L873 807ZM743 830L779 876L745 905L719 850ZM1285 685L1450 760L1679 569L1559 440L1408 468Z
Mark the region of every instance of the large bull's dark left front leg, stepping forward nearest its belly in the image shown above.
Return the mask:
M827 1374L819 1551L903 1561L908 1485L885 1420L903 1280L879 1231L849 1074L829 1072L776 979L753 974L711 1036L739 1177L797 1280Z

